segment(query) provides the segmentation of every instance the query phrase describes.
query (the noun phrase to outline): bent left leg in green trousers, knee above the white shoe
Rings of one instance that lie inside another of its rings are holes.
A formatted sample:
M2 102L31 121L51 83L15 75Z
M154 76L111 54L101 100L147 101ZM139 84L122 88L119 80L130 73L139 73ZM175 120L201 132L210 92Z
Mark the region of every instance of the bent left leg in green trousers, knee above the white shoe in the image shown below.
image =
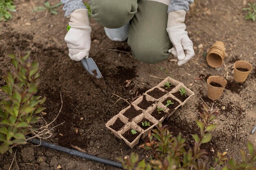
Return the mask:
M90 0L91 16L106 28L120 28L137 12L137 0Z

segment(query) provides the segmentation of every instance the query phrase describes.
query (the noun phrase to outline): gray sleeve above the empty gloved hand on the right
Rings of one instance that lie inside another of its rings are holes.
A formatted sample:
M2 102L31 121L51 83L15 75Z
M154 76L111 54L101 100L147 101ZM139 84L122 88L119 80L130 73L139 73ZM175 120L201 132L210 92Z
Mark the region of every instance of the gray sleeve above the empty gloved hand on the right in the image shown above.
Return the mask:
M189 5L194 0L172 0L168 7L168 13L172 11L179 11L185 10L186 12L189 11Z

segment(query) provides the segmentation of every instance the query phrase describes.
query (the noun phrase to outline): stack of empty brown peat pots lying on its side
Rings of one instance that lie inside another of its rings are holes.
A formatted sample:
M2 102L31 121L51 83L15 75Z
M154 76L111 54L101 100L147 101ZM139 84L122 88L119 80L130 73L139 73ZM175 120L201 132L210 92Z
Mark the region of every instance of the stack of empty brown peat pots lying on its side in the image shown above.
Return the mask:
M209 66L217 68L222 66L225 58L225 44L221 41L216 41L209 49L206 61Z

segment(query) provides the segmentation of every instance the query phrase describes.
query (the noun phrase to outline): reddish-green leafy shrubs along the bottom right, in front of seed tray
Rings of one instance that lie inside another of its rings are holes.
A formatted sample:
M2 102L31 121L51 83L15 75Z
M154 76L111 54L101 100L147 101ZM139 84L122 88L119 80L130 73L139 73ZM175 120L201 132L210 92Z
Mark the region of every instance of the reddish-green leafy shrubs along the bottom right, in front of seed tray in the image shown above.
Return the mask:
M151 151L148 162L145 159L139 161L139 155L133 152L130 157L116 159L122 163L125 170L255 170L256 149L252 143L248 143L249 155L240 150L242 162L238 163L235 157L228 159L225 157L227 152L218 152L214 165L207 166L204 161L207 152L201 150L200 145L211 140L212 134L209 132L217 127L216 124L211 124L211 121L217 119L219 113L218 109L210 110L206 105L203 107L204 112L200 113L202 121L195 121L200 128L200 135L192 135L195 139L193 149L186 151L186 140L182 138L182 134L173 136L167 125L159 123L159 126L148 134L149 142L140 146Z

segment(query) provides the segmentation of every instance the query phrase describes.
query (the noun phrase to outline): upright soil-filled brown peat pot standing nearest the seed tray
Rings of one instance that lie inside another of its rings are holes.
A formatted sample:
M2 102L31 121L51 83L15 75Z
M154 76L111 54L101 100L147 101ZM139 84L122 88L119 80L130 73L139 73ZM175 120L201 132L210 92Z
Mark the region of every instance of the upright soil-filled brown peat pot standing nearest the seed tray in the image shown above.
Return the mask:
M210 76L207 79L207 91L208 97L212 100L217 100L220 98L223 90L227 85L225 78L220 76Z

